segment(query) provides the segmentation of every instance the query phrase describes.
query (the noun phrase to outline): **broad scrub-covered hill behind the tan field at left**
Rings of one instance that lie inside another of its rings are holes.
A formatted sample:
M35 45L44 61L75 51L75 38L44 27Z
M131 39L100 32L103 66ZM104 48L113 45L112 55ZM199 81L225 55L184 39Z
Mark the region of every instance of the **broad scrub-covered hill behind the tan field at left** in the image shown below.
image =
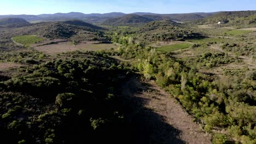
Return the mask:
M22 28L9 29L9 35L39 35L48 39L67 39L75 41L104 41L103 28L80 20L62 22L40 22Z

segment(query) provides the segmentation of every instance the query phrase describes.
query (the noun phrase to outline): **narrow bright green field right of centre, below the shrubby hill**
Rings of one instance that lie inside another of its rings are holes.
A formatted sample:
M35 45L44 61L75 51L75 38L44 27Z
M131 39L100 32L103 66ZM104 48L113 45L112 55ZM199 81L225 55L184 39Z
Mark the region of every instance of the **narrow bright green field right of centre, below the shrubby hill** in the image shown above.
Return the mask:
M173 45L162 46L159 49L156 49L156 51L164 51L164 52L176 51L176 50L181 50L181 49L187 49L188 47L190 47L192 45L193 44L189 44L189 43L177 43L177 44L173 44Z

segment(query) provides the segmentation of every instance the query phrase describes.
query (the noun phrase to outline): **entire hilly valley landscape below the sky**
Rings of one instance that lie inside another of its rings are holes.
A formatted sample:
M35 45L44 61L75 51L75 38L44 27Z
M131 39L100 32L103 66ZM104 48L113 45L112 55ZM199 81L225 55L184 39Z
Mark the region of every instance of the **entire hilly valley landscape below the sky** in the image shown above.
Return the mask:
M2 141L256 143L255 14L0 16Z

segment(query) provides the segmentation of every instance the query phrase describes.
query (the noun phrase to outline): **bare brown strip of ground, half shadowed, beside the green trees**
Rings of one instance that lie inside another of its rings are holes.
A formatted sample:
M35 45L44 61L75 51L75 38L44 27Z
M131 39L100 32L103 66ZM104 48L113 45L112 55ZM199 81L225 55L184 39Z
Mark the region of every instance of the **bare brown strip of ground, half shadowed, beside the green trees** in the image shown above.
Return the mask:
M139 134L147 135L140 135L138 143L211 143L210 136L155 82L133 76L122 89L123 95L132 98L131 123L141 129Z

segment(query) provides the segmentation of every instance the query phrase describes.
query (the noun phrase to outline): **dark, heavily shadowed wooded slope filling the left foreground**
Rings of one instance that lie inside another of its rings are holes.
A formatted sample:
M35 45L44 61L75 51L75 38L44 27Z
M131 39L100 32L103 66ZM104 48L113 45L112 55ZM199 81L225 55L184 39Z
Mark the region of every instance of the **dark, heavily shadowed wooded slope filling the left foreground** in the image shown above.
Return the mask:
M129 71L124 65L101 53L72 52L31 66L0 75L3 143L130 139L126 108L115 95Z

